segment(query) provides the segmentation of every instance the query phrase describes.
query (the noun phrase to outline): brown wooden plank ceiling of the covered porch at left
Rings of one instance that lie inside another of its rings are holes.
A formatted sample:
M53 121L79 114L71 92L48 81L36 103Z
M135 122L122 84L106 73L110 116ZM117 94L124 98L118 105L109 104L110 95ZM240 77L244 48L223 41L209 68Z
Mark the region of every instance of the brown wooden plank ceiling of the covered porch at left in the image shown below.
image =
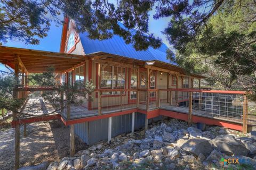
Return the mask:
M41 50L0 46L0 62L14 69L14 60L18 58L29 73L41 73L53 66L61 73L88 59L87 56L46 52Z

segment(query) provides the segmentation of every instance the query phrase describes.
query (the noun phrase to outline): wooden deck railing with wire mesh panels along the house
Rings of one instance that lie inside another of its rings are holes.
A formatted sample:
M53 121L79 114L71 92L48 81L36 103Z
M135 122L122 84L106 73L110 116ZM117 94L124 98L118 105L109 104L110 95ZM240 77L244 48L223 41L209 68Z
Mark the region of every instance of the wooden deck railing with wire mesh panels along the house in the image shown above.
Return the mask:
M23 88L25 91L56 90L49 88ZM229 122L247 124L247 98L244 91L200 89L95 89L93 100L84 96L82 105L67 105L62 94L61 114L67 119L123 112L131 109L152 111L165 109L172 112L218 118Z

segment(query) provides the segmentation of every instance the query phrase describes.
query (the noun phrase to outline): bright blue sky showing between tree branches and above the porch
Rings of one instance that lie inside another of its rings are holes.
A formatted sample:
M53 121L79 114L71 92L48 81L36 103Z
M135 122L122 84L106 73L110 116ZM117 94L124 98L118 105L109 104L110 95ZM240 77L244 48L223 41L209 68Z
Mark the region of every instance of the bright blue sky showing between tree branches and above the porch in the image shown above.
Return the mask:
M149 13L150 14L149 33L154 33L156 37L159 37L163 40L163 43L165 43L167 46L170 46L169 43L167 43L165 36L161 32L167 27L167 24L170 18L154 20L152 15L153 13L154 11L151 11ZM61 31L62 31L62 25L59 25L59 27L56 27L55 23L51 23L51 29L47 33L47 37L40 39L39 45L25 44L21 41L8 41L7 43L3 44L3 46L46 50L50 52L59 52ZM1 63L0 63L0 70L6 71L5 66L2 65Z

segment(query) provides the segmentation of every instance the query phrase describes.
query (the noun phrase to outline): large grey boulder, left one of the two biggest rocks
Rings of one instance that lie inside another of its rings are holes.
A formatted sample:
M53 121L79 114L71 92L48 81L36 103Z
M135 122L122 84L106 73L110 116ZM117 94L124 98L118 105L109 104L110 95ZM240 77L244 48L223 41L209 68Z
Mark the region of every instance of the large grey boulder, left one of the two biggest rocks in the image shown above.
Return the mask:
M212 152L212 146L210 142L205 139L189 139L181 146L181 148L193 155L196 155L197 157L200 153L209 155Z

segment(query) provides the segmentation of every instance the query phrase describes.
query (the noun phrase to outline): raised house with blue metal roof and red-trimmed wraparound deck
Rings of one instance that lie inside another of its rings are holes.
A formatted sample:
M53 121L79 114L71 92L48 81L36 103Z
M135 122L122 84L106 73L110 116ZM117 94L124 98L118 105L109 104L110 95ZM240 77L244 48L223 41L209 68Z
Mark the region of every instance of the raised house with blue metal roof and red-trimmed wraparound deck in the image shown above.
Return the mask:
M23 118L13 124L59 118L70 125L70 134L75 132L89 145L106 139L110 142L111 137L124 132L147 129L148 123L163 116L189 125L201 122L246 132L245 92L201 89L204 77L186 74L166 59L166 49L163 44L158 49L138 52L118 36L92 40L86 32L78 33L74 21L68 18L63 24L60 53L0 46L0 62L12 67L17 76L42 73L54 66L59 83L78 83L83 90L82 85L92 81L96 87L91 94L93 101L68 106L58 115ZM19 91L49 90L31 88L26 80L21 84Z

